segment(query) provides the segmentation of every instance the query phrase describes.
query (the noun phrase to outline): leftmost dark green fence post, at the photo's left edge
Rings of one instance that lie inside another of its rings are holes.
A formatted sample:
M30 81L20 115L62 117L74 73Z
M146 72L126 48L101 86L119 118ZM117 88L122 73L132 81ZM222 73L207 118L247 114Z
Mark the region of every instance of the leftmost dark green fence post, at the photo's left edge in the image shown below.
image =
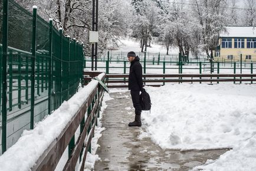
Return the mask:
M6 151L7 121L7 51L8 51L8 0L3 0L2 21L2 153Z

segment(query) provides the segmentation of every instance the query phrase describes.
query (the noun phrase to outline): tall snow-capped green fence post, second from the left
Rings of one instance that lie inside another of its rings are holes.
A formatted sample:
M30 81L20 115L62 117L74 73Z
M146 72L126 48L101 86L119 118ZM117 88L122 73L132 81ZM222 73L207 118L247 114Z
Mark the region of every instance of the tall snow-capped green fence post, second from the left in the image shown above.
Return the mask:
M32 58L31 58L31 115L30 129L34 129L34 105L35 105L35 36L37 31L37 6L33 6L33 28L32 28Z

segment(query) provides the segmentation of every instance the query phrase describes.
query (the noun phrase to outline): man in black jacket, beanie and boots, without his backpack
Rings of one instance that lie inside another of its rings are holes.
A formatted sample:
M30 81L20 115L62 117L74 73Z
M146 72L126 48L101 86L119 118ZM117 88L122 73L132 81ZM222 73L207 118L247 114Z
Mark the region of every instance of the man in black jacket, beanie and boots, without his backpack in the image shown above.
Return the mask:
M142 126L142 121L140 120L140 114L142 113L142 107L140 106L140 91L143 90L142 83L142 65L140 64L140 58L131 51L127 54L127 58L130 65L129 73L129 84L128 88L132 96L133 107L135 108L135 120L129 123L129 126Z

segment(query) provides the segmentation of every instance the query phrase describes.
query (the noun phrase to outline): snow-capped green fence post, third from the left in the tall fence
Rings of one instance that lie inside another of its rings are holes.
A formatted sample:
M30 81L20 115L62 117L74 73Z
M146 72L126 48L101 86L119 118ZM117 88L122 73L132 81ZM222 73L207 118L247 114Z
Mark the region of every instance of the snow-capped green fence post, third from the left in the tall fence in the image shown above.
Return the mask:
M48 114L51 114L52 19L49 19Z

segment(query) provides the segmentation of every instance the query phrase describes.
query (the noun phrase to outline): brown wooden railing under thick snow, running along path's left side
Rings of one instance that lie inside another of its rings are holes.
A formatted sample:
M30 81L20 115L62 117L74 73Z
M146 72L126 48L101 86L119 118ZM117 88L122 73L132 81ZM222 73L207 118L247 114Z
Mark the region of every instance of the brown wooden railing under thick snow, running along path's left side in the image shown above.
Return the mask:
M104 75L101 81L104 81L105 78L106 75ZM69 157L63 170L74 170L78 160L83 162L80 170L84 170L86 154L88 150L90 152L91 139L94 136L94 127L97 126L97 117L99 117L100 107L103 100L103 91L100 90L99 85L94 87L74 117L45 150L37 160L37 164L32 167L31 170L54 170L67 147L69 150ZM86 112L87 117L85 116ZM74 135L78 126L80 126L80 136L75 144ZM86 150L82 157L84 149Z

